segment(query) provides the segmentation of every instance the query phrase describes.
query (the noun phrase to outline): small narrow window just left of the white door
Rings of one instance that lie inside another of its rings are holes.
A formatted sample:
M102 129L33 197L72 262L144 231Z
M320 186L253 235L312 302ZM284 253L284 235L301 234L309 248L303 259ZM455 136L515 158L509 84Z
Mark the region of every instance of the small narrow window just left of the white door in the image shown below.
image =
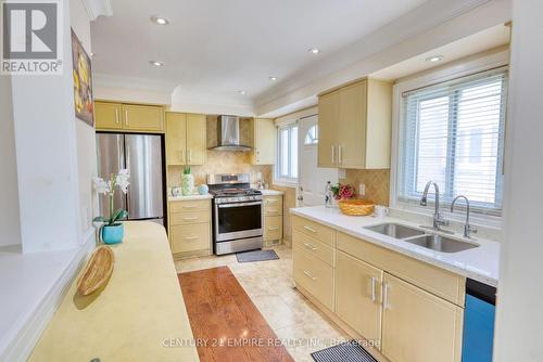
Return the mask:
M296 182L298 180L298 125L279 127L278 130L278 163L276 180Z

